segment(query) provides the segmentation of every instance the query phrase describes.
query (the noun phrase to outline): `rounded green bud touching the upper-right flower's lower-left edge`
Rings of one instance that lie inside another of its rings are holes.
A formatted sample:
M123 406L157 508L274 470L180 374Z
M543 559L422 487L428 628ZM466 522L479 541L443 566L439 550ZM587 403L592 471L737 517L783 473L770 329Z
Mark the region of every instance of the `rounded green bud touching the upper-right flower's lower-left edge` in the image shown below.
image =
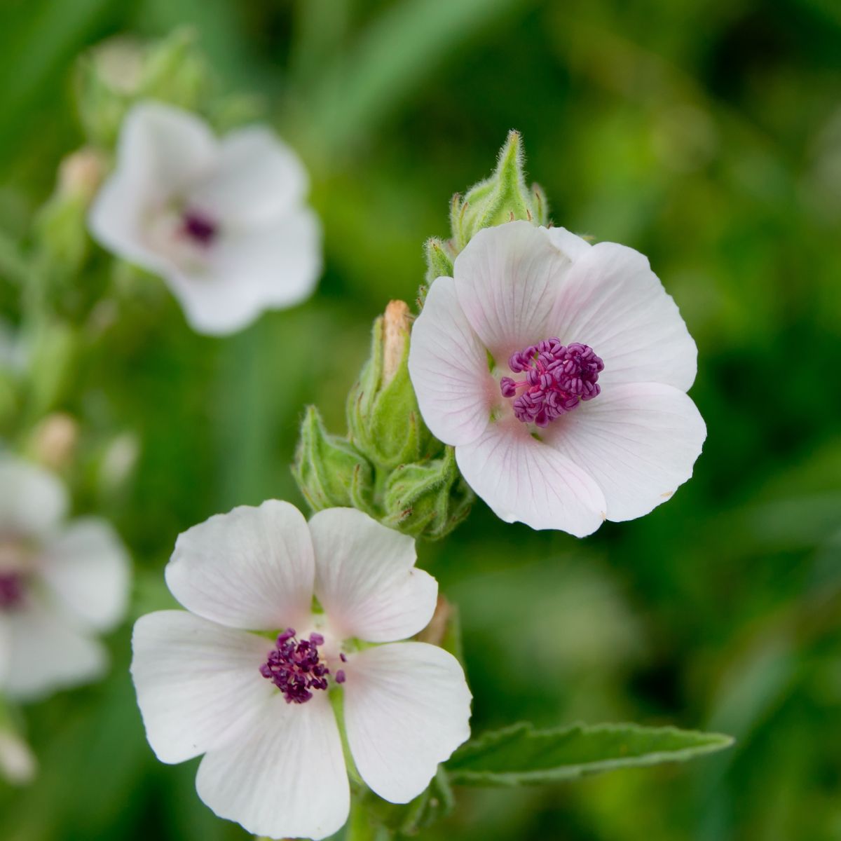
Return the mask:
M433 540L452 532L468 516L473 492L461 478L452 447L442 458L403 464L389 475L383 524Z

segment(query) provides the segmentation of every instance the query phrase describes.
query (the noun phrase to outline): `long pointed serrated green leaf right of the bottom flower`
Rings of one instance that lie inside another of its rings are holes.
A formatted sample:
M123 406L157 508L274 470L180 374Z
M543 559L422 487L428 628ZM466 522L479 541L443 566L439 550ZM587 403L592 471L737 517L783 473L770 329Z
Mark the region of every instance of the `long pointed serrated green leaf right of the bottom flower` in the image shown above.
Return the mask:
M521 722L485 733L459 748L447 763L455 785L533 785L587 774L682 762L727 748L733 739L675 727L574 724L536 730Z

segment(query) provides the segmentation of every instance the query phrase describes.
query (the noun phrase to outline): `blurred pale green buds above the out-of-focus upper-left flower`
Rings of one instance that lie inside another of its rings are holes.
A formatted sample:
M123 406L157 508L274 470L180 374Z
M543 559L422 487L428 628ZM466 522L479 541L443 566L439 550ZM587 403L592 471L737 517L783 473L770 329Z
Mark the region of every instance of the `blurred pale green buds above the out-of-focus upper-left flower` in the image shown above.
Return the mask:
M117 37L77 62L75 87L82 127L95 145L113 146L125 112L139 99L197 109L209 86L209 68L192 29L144 44Z

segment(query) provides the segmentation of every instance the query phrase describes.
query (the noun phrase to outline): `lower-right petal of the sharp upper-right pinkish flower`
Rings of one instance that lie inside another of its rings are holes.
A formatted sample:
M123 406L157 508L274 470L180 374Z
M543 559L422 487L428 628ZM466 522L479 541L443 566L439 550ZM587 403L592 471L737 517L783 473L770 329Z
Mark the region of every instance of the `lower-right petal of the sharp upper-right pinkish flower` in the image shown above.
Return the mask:
M547 442L599 483L612 521L668 500L692 475L705 438L692 400L660 383L615 385L547 428Z

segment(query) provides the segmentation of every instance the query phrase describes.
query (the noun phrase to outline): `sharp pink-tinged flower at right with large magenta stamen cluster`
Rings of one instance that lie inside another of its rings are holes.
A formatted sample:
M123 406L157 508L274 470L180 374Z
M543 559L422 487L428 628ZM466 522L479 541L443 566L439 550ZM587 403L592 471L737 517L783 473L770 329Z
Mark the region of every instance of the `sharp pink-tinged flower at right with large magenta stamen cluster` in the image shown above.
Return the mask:
M642 254L510 222L480 230L453 275L415 321L410 376L497 516L584 537L690 478L696 346Z

